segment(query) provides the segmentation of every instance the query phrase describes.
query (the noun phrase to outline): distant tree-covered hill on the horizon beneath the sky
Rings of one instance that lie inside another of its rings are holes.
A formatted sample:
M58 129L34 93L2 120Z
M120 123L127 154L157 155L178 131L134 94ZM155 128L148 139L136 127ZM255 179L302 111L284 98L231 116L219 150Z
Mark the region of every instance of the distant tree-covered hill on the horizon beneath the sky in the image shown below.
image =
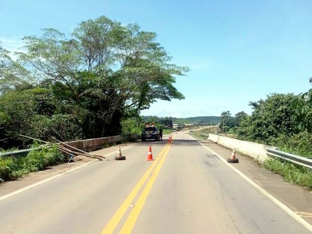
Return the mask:
M190 124L190 123L204 123L205 125L208 125L209 123L211 125L217 125L221 122L221 116L196 116L196 117L188 117L188 118L176 118L176 117L164 117L160 118L157 116L141 116L143 121L145 122L162 122L165 119L171 119L173 123L177 124Z

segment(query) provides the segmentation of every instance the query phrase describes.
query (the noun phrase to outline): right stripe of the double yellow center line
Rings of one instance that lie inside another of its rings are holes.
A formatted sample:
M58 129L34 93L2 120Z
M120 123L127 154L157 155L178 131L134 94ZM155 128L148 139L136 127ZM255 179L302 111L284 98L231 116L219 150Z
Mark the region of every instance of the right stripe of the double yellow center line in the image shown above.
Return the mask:
M160 172L162 165L164 164L165 158L168 154L170 147L167 148L166 152L164 153L164 157L162 157L162 159L160 160L157 168L155 169L155 171L153 172L151 179L147 182L144 190L142 191L140 197L138 198L135 206L133 207L133 209L131 210L127 220L125 221L124 225L122 226L119 234L130 234L131 230L133 229L133 226L136 222L136 219L138 218L141 209L143 208L143 205L145 203L145 200L147 198L147 195L153 185L153 183L156 180L156 177L158 175L158 173Z

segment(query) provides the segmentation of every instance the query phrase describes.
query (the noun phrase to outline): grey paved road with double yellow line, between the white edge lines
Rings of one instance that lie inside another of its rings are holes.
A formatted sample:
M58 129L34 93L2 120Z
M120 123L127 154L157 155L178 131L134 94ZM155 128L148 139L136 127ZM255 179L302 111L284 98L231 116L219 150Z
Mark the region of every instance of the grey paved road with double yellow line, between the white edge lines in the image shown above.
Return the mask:
M173 137L0 200L0 233L311 233L198 141Z

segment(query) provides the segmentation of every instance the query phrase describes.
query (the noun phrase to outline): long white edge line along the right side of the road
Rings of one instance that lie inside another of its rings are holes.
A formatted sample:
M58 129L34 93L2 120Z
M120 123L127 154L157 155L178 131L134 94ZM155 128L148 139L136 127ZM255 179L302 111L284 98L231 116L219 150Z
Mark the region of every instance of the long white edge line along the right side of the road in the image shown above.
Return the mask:
M190 136L190 135L189 135ZM195 139L194 137L190 136L191 138ZM197 140L198 141L198 140ZM293 217L295 220L297 220L299 223L301 223L305 228L307 228L309 231L312 231L312 225L309 224L307 221L305 221L302 217L300 217L298 214L296 214L293 210L291 210L288 206L286 206L284 203L276 199L272 194L267 192L265 189L257 185L254 181L252 181L250 178L245 176L241 171L239 171L237 168L233 167L225 159L223 159L219 154L208 148L206 145L204 145L201 142L202 146L204 146L206 149L208 149L210 152L216 155L223 163L225 163L228 167L230 167L233 171L235 171L237 174L239 174L241 177L243 177L248 183L250 183L252 186L254 186L256 189L258 189L262 194L264 194L266 197L268 197L271 201L273 201L276 205L278 205L281 209L283 209L287 214L289 214L291 217Z

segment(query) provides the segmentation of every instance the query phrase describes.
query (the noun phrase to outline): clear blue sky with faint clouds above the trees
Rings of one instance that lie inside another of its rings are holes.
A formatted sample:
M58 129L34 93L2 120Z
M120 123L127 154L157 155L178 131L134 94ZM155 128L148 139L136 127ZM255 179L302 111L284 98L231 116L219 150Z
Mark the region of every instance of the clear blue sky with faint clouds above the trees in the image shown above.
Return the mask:
M143 115L250 114L250 101L311 88L310 0L0 0L0 41L16 51L23 36L40 36L42 28L69 34L103 15L157 33L172 63L191 69L175 84L185 100L158 101Z

